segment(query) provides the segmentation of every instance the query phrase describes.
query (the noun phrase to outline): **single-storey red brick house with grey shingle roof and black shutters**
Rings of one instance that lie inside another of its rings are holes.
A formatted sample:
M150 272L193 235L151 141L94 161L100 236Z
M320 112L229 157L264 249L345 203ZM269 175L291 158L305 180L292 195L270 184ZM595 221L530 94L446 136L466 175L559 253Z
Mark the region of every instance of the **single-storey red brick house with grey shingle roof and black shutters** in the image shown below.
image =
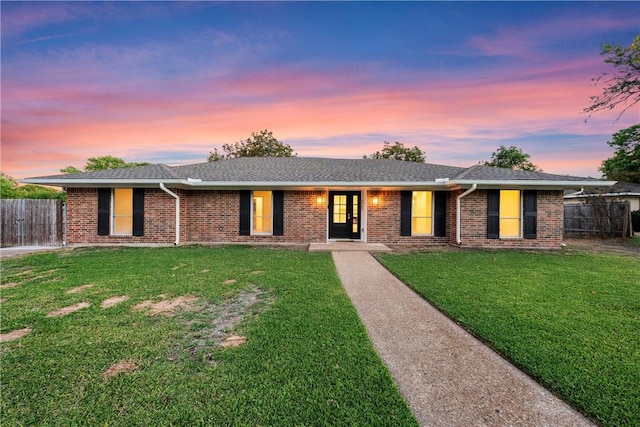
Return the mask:
M237 158L45 176L67 243L323 243L559 248L563 192L613 182L398 160Z

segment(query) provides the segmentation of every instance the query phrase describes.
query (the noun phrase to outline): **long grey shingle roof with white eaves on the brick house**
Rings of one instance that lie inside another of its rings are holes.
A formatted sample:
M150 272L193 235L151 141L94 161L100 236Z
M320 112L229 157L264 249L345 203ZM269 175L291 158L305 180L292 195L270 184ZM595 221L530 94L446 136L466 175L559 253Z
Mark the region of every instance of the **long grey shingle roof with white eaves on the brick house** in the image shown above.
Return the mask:
M613 182L476 165L470 168L387 159L241 157L184 166L149 165L27 178L61 187L166 186L182 188L456 187L477 184L540 188L608 186Z

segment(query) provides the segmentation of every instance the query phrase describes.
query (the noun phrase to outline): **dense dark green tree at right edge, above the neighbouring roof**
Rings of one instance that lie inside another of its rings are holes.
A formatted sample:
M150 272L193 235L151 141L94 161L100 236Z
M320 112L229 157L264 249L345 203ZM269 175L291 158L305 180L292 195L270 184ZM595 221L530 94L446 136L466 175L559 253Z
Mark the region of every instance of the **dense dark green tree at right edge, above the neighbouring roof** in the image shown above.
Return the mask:
M614 181L640 183L640 123L614 133L607 144L615 152L600 166L604 176Z

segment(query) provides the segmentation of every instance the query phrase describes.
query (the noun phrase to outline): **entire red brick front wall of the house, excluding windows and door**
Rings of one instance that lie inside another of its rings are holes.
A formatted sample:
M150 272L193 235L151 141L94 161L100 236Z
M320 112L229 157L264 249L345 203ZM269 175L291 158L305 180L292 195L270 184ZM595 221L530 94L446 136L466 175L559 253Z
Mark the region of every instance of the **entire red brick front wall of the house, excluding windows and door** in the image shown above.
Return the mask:
M172 190L180 197L181 243L323 243L327 238L327 191L285 191L284 234L241 236L239 191ZM400 192L368 191L366 240L401 245L456 244L456 197L447 201L447 236L400 236ZM318 203L318 197L322 201ZM378 197L378 205L373 198ZM67 189L69 244L172 244L175 241L175 199L160 189L146 189L144 236L98 236L98 190ZM562 191L538 192L537 239L487 239L487 193L477 190L462 199L463 247L559 248L562 244Z

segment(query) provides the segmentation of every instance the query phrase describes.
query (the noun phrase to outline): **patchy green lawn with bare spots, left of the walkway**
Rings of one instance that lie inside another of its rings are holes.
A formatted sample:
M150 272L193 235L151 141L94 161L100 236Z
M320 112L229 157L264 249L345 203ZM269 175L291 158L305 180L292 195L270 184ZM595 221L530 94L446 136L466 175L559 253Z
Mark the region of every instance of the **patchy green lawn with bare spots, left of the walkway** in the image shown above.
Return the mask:
M78 249L2 270L1 332L32 328L2 344L3 425L416 425L329 254ZM132 310L178 296L197 303ZM216 345L230 334L247 343ZM104 376L121 361L131 372Z

